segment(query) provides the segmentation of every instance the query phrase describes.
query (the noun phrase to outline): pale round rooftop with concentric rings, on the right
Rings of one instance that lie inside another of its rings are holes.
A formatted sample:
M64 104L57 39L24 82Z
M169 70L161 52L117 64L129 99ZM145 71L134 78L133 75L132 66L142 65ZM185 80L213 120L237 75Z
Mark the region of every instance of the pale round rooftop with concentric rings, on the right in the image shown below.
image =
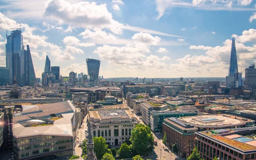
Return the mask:
M225 126L242 126L245 124L244 120L234 119L230 117L217 116L217 115L202 115L180 117L180 120L193 124L197 127L225 127Z

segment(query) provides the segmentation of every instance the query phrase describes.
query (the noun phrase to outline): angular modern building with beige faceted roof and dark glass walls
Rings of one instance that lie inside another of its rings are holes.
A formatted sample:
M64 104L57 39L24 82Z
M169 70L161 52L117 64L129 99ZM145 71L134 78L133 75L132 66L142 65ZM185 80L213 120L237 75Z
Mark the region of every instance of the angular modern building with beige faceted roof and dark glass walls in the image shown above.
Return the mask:
M55 160L73 155L80 109L70 101L22 108L13 117L15 159Z

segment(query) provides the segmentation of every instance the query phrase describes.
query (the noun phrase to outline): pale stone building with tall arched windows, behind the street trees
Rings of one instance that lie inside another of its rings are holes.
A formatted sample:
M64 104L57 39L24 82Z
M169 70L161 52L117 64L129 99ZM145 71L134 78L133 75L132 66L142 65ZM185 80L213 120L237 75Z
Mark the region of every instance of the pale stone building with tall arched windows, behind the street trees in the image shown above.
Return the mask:
M122 145L131 137L131 131L140 121L130 110L90 110L90 130L93 137L106 139L109 146Z

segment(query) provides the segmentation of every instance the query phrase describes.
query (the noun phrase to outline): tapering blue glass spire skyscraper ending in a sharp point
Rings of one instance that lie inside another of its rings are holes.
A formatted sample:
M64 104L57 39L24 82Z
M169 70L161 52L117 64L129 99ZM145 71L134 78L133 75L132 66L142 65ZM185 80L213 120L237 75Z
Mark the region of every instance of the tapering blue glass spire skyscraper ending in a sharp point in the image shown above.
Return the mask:
M233 37L228 76L235 76L237 73L238 73L238 67L237 67L237 58L236 58L236 42L235 42L235 38Z

